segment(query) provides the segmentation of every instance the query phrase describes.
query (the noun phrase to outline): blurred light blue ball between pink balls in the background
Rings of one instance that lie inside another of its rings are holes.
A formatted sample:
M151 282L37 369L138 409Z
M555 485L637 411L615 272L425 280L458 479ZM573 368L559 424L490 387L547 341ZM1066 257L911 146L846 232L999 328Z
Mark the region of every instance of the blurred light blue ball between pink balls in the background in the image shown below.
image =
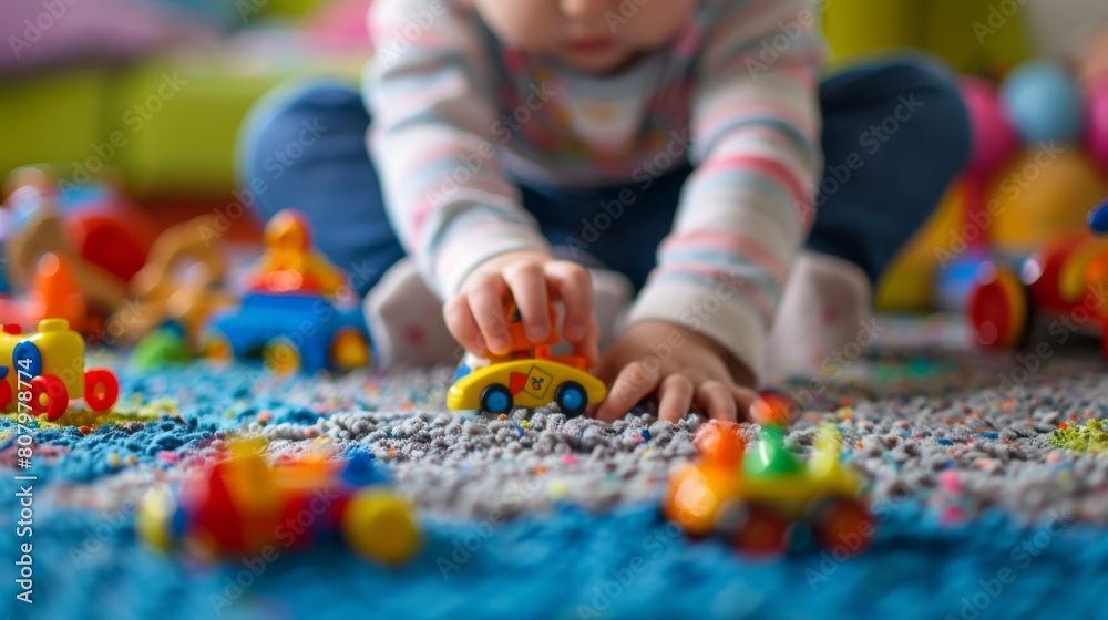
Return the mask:
M1016 133L1028 145L1081 138L1085 96L1077 79L1050 61L1020 64L1001 86L1001 100Z

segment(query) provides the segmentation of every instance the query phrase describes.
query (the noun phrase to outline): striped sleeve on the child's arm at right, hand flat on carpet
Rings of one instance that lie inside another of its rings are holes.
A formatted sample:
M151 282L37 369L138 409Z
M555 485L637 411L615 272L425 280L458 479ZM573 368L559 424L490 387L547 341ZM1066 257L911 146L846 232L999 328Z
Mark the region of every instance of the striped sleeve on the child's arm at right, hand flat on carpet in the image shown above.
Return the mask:
M628 320L685 326L760 376L784 280L814 215L824 50L806 0L720 3L694 89L696 169Z

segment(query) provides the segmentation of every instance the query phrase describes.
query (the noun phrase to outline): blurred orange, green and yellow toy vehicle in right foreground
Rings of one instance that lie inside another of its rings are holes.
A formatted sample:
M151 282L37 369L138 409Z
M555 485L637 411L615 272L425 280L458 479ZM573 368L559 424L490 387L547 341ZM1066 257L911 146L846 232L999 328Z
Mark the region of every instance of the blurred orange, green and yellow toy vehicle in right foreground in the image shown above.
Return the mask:
M749 446L733 422L700 427L700 458L670 478L666 517L694 538L724 538L746 556L784 552L801 527L837 558L864 550L875 534L874 518L862 477L840 464L838 431L820 427L806 462L786 445L789 414L779 403L756 405L756 416L766 423Z

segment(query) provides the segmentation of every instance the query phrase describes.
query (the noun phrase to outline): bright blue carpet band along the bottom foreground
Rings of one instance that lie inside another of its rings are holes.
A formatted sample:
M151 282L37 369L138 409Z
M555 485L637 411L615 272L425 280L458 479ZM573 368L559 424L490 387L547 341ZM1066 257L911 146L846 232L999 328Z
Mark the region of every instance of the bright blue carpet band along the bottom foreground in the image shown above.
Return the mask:
M6 485L9 486L9 485ZM7 490L7 489L6 489ZM341 549L274 561L195 565L135 546L130 523L41 514L33 606L13 618L1104 618L1108 538L1060 524L1014 527L986 514L938 527L916 507L882 513L874 547L835 561L800 549L738 560L689 542L653 506L592 516L563 509L501 527L431 523L398 571ZM17 557L6 536L0 552ZM11 566L9 564L9 566Z

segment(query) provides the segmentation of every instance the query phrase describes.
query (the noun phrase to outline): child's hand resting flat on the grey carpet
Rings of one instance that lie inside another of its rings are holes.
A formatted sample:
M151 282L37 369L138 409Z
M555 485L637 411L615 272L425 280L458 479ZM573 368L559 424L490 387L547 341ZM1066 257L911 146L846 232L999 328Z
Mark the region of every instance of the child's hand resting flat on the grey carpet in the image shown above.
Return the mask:
M612 422L650 394L658 417L677 422L690 410L709 417L746 417L757 394L753 376L722 347L680 326L643 321L627 328L604 354L601 379L611 382L596 417Z

